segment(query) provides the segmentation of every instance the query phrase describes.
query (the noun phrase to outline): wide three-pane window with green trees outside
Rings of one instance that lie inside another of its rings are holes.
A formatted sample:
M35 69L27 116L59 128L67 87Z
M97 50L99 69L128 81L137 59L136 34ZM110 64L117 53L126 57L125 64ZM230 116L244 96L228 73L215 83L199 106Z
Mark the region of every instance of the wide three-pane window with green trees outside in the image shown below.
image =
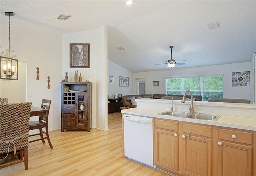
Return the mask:
M166 78L166 94L184 94L186 90L202 95L206 102L209 98L223 98L223 76Z

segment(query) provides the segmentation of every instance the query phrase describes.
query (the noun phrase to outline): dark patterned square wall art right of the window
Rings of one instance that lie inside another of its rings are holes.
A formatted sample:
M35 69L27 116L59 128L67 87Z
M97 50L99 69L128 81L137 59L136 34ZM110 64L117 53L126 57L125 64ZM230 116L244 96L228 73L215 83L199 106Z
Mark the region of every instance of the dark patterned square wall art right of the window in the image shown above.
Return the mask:
M250 71L232 72L232 86L250 86Z

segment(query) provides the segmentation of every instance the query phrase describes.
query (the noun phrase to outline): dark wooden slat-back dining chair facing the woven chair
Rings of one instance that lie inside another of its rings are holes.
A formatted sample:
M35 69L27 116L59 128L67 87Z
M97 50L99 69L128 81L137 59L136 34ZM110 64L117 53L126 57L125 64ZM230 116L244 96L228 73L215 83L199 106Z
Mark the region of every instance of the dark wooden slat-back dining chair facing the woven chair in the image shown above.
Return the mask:
M44 139L47 139L51 149L53 149L52 143L50 141L49 133L48 133L48 115L49 115L51 102L52 102L52 100L43 99L41 108L48 110L47 113L45 115L40 115L38 121L30 121L29 122L29 130L39 129L39 133L29 135L29 137L40 135L39 139L34 139L32 141L29 141L29 143L32 143L35 141L40 141L40 140L42 140L42 143L45 143ZM43 131L42 128L45 128L45 131ZM44 137L43 133L46 134L46 137Z

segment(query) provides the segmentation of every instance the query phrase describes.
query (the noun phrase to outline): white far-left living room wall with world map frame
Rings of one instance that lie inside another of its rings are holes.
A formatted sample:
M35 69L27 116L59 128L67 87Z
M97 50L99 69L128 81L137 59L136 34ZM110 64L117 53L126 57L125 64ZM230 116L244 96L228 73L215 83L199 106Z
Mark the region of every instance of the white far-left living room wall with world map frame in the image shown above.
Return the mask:
M108 60L108 76L113 76L113 83L108 82L108 95L110 97L114 94L122 94L122 96L133 94L132 72ZM129 86L119 86L119 76L129 77Z

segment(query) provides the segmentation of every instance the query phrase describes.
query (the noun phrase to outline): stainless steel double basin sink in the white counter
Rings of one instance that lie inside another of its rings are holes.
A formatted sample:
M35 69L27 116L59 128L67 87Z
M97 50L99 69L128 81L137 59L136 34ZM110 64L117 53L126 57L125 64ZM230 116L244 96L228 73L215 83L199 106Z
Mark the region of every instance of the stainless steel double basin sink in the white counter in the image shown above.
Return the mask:
M184 118L191 118L191 119L200 119L200 120L208 120L208 121L216 121L220 115L213 115L207 113L190 113L190 112L182 112L182 111L165 111L158 113L161 115L171 115L174 117L184 117Z

